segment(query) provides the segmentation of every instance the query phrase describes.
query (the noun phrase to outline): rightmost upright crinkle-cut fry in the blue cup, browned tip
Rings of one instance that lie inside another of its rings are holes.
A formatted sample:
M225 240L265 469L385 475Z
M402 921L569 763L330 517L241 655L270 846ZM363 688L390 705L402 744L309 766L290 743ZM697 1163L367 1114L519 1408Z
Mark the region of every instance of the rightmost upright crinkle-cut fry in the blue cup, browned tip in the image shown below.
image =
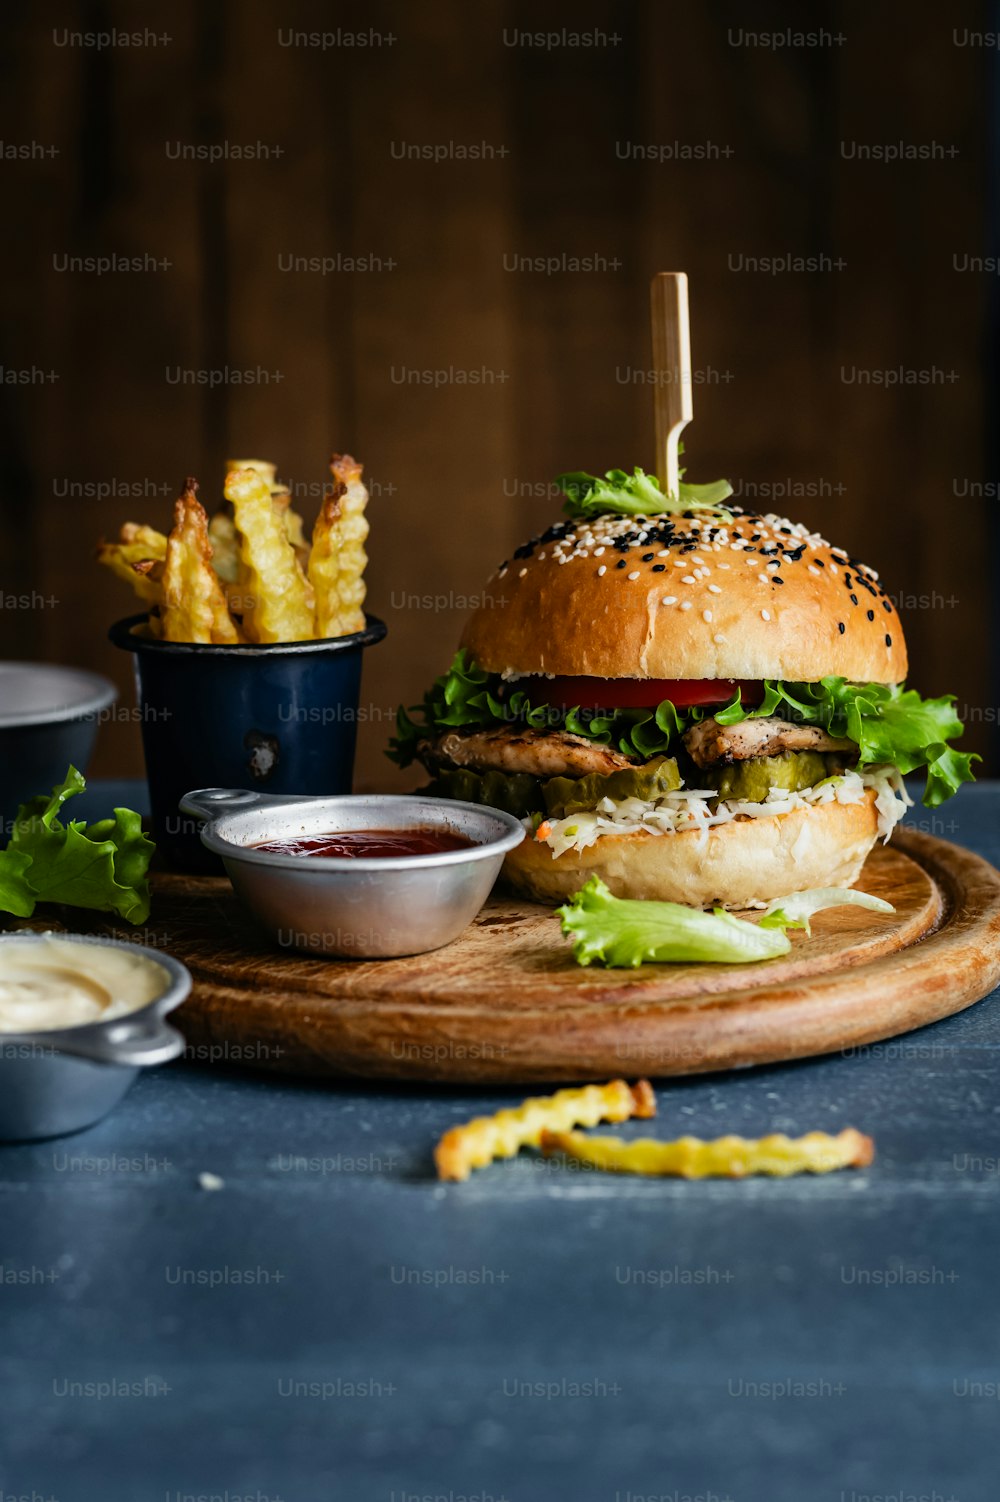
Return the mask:
M350 454L335 454L330 472L333 490L320 506L309 550L317 637L344 637L365 629L368 491L362 485L362 466Z

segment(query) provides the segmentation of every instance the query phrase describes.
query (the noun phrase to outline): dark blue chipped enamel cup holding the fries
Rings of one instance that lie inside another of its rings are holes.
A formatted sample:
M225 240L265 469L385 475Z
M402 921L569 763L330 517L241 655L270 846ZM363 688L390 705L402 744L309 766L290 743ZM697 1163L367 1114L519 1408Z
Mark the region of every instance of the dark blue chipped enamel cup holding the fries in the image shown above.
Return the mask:
M144 614L111 626L135 653L153 838L174 867L221 870L179 810L192 787L351 792L362 653L386 635L365 620L348 637L267 646L158 641Z

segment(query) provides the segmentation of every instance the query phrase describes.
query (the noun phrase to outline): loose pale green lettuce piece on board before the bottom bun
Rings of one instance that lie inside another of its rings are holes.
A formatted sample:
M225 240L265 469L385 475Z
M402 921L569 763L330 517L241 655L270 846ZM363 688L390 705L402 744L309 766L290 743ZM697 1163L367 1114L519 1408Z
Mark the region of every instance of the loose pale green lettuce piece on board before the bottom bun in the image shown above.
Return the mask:
M703 913L680 903L635 901L613 897L599 876L592 876L557 910L563 934L574 942L578 964L635 967L640 964L752 964L775 960L791 949L787 928L809 930L812 913L851 903L877 913L892 913L890 903L845 888L793 892L770 904L758 924L716 907Z

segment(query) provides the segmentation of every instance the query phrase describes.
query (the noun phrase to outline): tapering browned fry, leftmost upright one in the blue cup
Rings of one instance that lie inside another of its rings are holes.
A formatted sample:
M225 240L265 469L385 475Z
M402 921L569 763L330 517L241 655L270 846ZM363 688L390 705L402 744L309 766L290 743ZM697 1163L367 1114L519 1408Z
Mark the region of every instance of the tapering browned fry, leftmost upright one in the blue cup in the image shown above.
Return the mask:
M236 644L240 637L222 586L212 568L209 518L188 479L174 506L174 530L167 539L162 632L165 641Z

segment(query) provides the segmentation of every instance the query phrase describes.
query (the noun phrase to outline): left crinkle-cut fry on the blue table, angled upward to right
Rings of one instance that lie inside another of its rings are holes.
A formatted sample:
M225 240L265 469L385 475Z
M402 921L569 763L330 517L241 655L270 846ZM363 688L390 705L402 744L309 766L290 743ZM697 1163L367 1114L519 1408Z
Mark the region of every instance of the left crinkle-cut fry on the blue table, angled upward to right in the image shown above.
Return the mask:
M494 1116L476 1116L444 1133L434 1149L438 1179L467 1179L494 1158L514 1158L521 1148L538 1148L547 1128L596 1126L598 1122L623 1122L632 1116L655 1116L656 1096L649 1080L629 1086L625 1080L610 1084L584 1084L578 1090L539 1095Z

